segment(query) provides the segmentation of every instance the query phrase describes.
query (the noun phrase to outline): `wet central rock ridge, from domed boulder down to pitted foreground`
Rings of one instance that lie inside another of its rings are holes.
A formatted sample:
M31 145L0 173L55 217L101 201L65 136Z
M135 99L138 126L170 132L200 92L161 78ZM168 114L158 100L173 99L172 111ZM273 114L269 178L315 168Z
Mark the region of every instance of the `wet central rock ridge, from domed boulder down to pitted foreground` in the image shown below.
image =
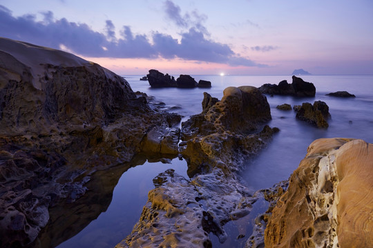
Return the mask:
M118 248L211 247L209 233L224 243L224 224L249 214L257 198L236 172L277 131L263 127L271 119L267 99L256 87L228 87L221 101L204 93L202 109L182 123L189 178L157 176L139 222Z

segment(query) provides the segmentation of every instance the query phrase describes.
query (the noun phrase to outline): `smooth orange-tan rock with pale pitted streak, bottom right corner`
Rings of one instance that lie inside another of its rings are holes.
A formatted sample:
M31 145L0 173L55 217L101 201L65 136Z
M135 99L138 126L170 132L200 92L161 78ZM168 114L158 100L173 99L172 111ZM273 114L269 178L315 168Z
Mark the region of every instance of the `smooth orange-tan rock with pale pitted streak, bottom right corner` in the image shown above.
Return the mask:
M372 154L362 140L309 145L271 211L265 247L373 247Z

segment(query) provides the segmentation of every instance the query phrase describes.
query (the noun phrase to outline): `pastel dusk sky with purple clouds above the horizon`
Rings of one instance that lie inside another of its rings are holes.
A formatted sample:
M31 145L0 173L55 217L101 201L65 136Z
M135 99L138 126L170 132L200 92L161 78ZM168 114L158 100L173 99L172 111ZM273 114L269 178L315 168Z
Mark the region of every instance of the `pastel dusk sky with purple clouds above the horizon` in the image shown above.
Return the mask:
M373 74L372 0L0 0L0 37L120 75Z

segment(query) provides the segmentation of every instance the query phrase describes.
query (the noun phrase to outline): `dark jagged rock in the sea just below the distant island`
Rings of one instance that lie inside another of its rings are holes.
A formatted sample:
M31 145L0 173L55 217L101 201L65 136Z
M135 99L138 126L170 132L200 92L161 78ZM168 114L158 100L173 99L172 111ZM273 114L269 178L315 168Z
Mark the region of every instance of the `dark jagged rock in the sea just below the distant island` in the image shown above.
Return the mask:
M266 83L259 87L262 94L278 94L291 96L315 96L316 88L313 83L303 81L296 76L292 76L293 82L287 83L286 80L280 81L278 85Z

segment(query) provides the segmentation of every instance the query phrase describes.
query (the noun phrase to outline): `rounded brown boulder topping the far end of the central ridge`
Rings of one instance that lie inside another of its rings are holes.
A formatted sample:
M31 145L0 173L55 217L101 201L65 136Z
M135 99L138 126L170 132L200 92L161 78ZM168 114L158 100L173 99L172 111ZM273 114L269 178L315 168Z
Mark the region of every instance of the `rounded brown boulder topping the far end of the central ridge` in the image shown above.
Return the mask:
M271 119L267 98L256 87L227 87L221 101L207 109L209 95L202 102L204 112L182 123L182 140L214 132L251 132ZM215 100L213 100L215 102Z

